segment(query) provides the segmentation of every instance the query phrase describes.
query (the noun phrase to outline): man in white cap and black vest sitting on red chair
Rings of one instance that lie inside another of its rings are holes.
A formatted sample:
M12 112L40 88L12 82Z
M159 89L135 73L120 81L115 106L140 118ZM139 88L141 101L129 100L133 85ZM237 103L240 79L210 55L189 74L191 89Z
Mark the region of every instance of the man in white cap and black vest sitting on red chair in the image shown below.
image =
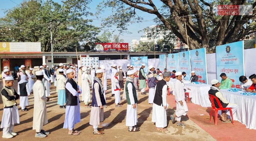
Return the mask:
M213 79L211 81L211 88L209 90L209 94L212 94L213 96L217 97L220 101L220 104L222 105L223 108L231 108L232 109L232 114L234 115L234 113L236 112L238 106L237 104L233 104L233 103L229 103L226 98L223 97L221 91L220 91L220 82L216 79ZM216 108L219 108L218 103L216 102L216 100L214 99L214 105ZM221 110L219 111L219 115L221 117L222 122L225 123L230 123L232 122L230 119L230 111L227 110L226 113L222 113L221 114Z

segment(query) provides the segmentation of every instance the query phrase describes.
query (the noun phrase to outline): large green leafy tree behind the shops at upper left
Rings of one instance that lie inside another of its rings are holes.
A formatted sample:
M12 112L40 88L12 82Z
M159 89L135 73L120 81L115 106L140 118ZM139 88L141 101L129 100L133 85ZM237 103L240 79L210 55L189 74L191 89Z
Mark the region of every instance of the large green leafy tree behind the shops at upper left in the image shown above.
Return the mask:
M75 51L76 47L78 51L90 51L97 42L99 28L82 17L89 12L78 12L70 6L68 2L60 5L52 0L24 1L0 19L0 41L41 42L41 50L47 52L52 30L53 51Z

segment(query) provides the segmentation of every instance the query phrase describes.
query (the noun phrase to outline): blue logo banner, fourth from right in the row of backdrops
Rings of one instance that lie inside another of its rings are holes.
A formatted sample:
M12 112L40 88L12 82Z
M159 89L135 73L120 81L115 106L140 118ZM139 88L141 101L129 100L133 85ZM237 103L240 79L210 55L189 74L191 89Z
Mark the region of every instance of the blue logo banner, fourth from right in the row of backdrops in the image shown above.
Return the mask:
M178 60L179 60L179 53L172 53L168 54L168 57L166 58L167 64L166 69L167 71L178 71Z

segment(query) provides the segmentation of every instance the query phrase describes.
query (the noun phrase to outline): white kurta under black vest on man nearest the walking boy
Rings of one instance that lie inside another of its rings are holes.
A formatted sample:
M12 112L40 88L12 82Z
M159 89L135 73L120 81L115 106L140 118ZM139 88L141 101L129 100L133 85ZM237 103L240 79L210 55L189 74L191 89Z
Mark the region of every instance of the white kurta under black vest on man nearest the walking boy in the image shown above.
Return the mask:
M157 85L157 84L156 84ZM162 88L162 102L163 105L159 106L153 103L153 111L152 111L152 122L156 123L157 128L164 128L167 126L167 116L166 116L166 109L163 106L167 106L166 102L167 96L167 85L163 86Z

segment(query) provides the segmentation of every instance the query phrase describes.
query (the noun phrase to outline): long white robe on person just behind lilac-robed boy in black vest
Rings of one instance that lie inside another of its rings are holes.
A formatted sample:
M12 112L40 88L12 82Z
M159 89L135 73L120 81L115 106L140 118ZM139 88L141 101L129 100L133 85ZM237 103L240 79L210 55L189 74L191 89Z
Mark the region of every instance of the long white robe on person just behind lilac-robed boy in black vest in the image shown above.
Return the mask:
M82 101L90 102L91 101L91 91L90 84L88 80L91 82L89 75L86 72L82 74Z

